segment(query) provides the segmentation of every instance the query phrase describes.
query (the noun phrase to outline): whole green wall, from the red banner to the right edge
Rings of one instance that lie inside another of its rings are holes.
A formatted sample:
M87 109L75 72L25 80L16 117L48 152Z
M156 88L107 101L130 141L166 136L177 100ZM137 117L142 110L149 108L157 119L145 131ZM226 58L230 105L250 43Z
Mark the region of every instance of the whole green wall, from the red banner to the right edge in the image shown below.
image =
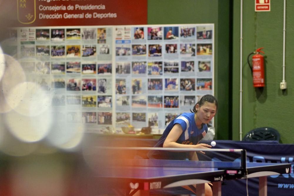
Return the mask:
M292 58L294 1L287 1L286 82L280 90L283 65L283 1L271 1L271 11L255 12L254 1L243 1L242 138L253 128L273 127L282 143L294 143L292 131ZM148 24L215 24L216 138L239 140L240 99L240 1L148 0ZM264 47L265 87L253 88L247 63L249 53Z

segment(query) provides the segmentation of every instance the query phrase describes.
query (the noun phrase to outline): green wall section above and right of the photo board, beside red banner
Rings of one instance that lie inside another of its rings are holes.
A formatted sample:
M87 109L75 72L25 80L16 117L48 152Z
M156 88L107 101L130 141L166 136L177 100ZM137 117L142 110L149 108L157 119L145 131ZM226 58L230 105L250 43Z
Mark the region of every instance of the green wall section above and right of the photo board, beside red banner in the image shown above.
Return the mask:
M216 138L230 139L230 1L148 0L148 24L215 24Z

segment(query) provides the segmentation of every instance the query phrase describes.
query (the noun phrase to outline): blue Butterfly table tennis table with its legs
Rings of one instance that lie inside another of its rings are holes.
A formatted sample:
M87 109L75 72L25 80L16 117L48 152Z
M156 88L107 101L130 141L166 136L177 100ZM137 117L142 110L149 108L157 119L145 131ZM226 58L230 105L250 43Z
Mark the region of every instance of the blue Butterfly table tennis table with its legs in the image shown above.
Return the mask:
M290 173L290 170L291 164L284 163L246 163L245 173L218 167L106 166L98 172L98 179L106 184L103 188L112 189L117 195L149 195L158 189L196 185L197 196L204 196L204 184L211 182L213 195L219 196L223 180L259 177L259 195L265 196L267 176Z

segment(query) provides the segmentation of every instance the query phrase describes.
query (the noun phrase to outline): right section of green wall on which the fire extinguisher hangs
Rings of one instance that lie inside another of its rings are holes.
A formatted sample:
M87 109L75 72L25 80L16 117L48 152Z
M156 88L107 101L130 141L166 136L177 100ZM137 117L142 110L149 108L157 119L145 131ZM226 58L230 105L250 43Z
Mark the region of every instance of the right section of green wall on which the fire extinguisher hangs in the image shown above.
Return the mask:
M271 1L270 12L255 12L254 1L243 1L243 136L253 128L273 127L281 134L282 143L293 143L294 67L293 19L294 1L286 9L286 74L288 88L280 90L283 65L283 1ZM240 1L233 5L233 139L239 140L239 72L240 72ZM247 56L264 47L265 87L253 88Z

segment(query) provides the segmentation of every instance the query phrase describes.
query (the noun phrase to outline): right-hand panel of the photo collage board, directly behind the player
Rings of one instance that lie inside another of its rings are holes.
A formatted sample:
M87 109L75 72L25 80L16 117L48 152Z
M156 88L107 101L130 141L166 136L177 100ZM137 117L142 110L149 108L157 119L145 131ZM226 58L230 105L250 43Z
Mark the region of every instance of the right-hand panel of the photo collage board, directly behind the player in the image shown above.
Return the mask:
M213 94L213 24L121 26L114 35L116 127L160 134Z

